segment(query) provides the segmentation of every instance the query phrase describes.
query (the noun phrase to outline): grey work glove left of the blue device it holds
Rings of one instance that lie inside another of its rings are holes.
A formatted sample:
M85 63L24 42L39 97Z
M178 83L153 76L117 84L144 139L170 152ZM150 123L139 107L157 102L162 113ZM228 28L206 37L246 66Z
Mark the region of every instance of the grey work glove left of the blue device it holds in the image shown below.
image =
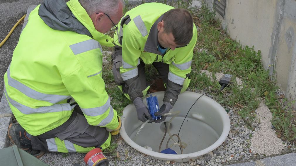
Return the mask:
M136 106L138 119L140 121L145 122L148 119L152 120L152 116L150 115L149 110L146 107L146 105L144 105L141 97L136 97L135 100L133 100L133 104Z

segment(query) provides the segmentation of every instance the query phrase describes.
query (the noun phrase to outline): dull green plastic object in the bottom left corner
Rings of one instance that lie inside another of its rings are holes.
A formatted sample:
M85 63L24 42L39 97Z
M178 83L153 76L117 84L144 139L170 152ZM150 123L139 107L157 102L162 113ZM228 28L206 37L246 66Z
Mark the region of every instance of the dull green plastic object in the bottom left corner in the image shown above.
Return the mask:
M7 166L48 166L17 146L0 149L0 165Z

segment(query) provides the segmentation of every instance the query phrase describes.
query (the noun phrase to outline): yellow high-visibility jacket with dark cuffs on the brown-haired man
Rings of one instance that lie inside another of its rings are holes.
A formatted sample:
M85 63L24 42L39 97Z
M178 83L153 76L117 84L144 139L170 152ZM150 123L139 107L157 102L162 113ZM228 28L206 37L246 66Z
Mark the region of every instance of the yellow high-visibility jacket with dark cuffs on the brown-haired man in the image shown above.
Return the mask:
M168 50L162 54L158 51L157 23L172 6L161 3L146 3L126 12L118 24L119 30L114 34L114 43L122 47L121 77L128 87L131 100L143 97L138 69L140 61L145 64L162 61L169 65L168 83L163 101L176 102L185 79L189 79L193 48L197 40L197 29L193 25L193 37L189 44ZM118 52L115 48L115 52ZM120 54L120 53L119 53ZM190 81L186 81L188 84ZM187 85L188 86L188 85Z

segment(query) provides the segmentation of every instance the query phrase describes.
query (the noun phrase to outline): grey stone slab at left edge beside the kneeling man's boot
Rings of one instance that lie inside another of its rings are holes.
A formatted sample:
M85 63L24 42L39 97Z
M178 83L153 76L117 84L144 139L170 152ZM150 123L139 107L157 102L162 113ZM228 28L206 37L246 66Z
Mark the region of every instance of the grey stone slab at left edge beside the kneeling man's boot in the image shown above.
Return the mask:
M12 123L10 117L0 118L0 149L9 147L8 126Z

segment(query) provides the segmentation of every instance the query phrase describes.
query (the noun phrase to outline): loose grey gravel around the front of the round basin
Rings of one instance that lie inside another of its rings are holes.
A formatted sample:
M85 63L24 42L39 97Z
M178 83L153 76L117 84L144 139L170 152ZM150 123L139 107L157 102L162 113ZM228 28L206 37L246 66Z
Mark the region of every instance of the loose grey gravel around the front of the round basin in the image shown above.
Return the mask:
M202 91L196 91L192 89L188 89L188 91L197 92L197 93L205 93L206 89ZM282 94L282 92L277 92ZM206 96L213 98L210 94ZM252 123L252 127L255 128L254 131L246 128L245 122L237 115L238 109L230 109L229 108L229 118L231 122L230 132L227 139L221 144L220 147L215 149L213 152L203 155L198 160L190 161L190 162L174 162L174 161L161 161L155 160L150 156L146 156L136 151L132 147L130 147L120 135L114 136L112 143L118 144L117 148L112 152L112 154L107 154L104 152L105 156L109 159L109 165L128 165L128 166L183 166L183 165L230 165L234 163L241 162L250 162L259 160L265 157L274 157L276 155L282 155L287 153L296 152L295 143L291 143L288 141L283 141L284 150L280 151L278 154L273 154L270 156L266 156L265 154L255 154L250 149L250 136L254 136L256 131L260 130L260 124L258 122ZM255 112L259 112L255 110ZM261 120L262 123L262 120ZM262 124L261 124L262 125ZM159 140L160 141L160 140ZM266 141L269 141L269 138L266 137ZM261 147L268 149L268 147ZM280 148L281 149L281 148ZM279 150L280 150L279 149ZM46 153L41 160L45 163L52 166L86 166L83 162L85 154L79 153Z

